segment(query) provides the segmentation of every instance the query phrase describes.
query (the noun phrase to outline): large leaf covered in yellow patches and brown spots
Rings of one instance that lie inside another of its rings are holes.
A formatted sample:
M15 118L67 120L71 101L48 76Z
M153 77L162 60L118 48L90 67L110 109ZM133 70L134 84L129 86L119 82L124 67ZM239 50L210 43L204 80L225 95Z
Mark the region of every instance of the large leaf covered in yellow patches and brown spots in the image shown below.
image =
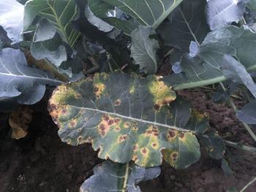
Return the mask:
M176 93L154 75L102 73L56 88L49 111L63 142L89 142L99 158L149 167L162 164L163 155L184 169L200 158L200 145L186 128L189 105L169 107L174 99ZM199 124L200 118L193 123Z

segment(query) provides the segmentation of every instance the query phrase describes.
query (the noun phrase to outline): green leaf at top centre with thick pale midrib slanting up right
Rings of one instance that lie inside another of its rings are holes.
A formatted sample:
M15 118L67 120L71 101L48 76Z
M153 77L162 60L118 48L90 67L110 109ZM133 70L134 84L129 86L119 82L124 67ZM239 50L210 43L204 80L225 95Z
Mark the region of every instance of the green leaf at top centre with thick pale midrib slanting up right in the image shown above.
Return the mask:
M130 34L140 25L156 29L181 2L182 0L89 0L89 7L97 17L123 30L126 34ZM121 20L102 15L102 12L108 12L109 5L121 9L132 19ZM101 7L102 9L94 9L94 7Z

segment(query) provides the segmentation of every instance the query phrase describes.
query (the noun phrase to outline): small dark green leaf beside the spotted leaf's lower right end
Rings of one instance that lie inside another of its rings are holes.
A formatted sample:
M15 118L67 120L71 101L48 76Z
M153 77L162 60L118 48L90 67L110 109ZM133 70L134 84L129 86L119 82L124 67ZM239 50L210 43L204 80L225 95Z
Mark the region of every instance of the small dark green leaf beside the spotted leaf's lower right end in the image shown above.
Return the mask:
M208 131L206 134L200 134L198 136L200 145L206 149L206 152L211 158L222 159L225 153L225 142L222 137L219 136L217 131Z

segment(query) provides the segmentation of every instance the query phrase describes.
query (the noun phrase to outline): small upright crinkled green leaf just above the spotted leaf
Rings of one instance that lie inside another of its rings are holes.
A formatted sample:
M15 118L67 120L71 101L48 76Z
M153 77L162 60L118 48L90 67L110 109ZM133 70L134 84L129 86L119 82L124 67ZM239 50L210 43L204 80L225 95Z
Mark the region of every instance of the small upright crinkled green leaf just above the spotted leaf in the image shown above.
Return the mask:
M147 74L157 72L157 49L159 43L156 39L150 39L150 35L154 34L152 28L140 26L132 31L132 47L131 55L135 59L135 64L140 65L140 70Z

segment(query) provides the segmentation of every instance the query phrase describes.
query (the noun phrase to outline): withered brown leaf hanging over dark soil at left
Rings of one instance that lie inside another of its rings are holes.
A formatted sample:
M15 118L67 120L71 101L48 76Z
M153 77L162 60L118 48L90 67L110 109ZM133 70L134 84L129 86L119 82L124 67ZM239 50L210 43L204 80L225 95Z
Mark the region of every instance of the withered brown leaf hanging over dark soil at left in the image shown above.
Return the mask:
M32 109L29 106L20 106L11 113L9 124L12 128L12 138L21 139L28 134L29 123L32 120Z

